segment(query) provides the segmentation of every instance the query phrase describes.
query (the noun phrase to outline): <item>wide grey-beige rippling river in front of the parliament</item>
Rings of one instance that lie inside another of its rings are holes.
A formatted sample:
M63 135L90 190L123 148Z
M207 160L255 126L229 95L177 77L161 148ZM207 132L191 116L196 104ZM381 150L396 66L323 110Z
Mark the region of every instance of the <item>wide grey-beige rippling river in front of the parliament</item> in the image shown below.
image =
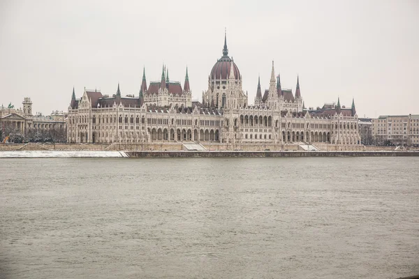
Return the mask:
M0 160L0 278L419 274L419 158Z

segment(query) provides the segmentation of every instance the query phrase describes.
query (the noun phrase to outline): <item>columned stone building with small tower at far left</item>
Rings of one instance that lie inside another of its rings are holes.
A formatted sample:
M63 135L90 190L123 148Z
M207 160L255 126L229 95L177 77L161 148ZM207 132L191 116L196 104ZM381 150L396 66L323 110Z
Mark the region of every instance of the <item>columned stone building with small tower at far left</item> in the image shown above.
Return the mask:
M33 114L31 98L24 98L23 108L11 103L0 107L1 142L66 142L66 114Z

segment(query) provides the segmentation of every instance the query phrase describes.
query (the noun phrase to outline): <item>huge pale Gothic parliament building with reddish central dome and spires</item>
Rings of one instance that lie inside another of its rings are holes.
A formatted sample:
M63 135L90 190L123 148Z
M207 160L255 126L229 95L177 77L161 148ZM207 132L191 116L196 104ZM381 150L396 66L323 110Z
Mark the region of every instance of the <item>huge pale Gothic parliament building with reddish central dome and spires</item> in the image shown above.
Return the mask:
M68 107L68 142L219 142L223 144L289 144L316 142L360 144L358 115L337 104L306 109L297 77L295 94L281 89L274 63L269 89L262 96L260 78L254 105L248 105L240 70L228 56L212 67L202 101L191 100L186 69L184 87L172 82L163 66L161 80L147 86L145 70L138 97L112 97L86 90Z

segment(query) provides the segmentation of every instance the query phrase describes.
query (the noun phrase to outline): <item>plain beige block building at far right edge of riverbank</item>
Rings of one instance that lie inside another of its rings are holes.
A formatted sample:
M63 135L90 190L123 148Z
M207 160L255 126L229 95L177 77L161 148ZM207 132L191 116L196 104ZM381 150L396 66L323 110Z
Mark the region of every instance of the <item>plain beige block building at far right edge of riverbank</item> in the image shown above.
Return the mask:
M372 130L376 145L419 146L419 114L379 116Z

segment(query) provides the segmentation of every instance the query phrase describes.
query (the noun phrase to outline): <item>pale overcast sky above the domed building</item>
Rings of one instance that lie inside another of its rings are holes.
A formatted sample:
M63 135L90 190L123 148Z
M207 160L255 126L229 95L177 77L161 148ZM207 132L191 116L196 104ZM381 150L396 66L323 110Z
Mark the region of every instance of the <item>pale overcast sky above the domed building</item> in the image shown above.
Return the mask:
M258 75L269 87L272 60L282 88L305 105L336 102L359 116L419 114L419 1L18 1L0 0L0 105L34 112L68 109L73 86L138 95L170 80L193 98L207 89L222 56L224 28L230 57L249 103Z

